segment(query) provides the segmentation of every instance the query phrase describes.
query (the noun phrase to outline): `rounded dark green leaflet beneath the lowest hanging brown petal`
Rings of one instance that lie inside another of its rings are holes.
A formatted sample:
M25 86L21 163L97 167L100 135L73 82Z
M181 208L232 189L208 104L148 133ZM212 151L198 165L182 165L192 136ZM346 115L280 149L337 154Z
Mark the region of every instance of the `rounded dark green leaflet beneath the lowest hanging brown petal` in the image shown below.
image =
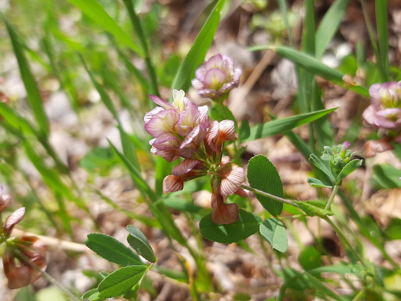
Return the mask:
M239 209L239 220L233 224L221 225L212 222L212 213L205 215L199 222L201 234L208 240L231 244L245 239L259 230L262 219L252 212Z

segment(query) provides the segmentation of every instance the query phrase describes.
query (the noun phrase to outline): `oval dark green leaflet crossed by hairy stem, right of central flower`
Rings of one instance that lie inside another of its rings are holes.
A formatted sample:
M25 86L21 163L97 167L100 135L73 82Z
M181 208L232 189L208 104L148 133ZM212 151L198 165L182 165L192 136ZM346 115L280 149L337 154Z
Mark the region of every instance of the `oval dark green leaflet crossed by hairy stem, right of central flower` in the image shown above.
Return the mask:
M277 170L265 156L257 155L249 160L247 177L252 188L283 197L283 184ZM279 216L282 212L283 203L259 194L255 195L272 216Z

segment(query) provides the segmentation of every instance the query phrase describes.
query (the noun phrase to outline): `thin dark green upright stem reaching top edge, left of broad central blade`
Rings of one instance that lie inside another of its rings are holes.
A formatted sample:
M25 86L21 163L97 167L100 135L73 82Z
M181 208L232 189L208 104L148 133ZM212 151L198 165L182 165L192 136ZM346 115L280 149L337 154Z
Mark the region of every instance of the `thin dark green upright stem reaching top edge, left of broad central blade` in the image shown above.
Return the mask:
M146 69L148 69L149 77L150 77L149 93L160 96L158 87L157 87L156 71L153 67L152 61L150 60L148 43L146 43L146 38L145 38L145 34L144 34L144 31L141 26L141 22L138 18L138 15L136 14L136 12L134 10L134 6L132 5L132 0L124 0L124 4L126 5L128 14L130 15L132 27L134 27L134 31L138 35L139 41L141 43L141 47L145 53L144 59L145 59Z

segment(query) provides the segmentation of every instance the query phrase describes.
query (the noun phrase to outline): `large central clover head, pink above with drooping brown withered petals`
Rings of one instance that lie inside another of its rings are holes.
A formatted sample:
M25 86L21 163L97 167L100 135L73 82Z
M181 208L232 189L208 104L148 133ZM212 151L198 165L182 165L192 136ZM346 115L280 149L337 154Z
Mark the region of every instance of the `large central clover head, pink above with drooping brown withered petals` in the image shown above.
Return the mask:
M246 197L249 191L241 188L243 168L232 168L231 159L222 157L224 142L235 139L234 122L211 122L207 106L197 107L182 90L173 90L172 96L173 102L169 104L150 95L158 107L144 117L145 130L153 136L149 141L151 153L168 162L184 158L172 169L171 175L164 178L163 192L180 191L185 181L210 174L212 221L217 224L236 222L239 219L238 206L225 203L225 199L231 193Z

